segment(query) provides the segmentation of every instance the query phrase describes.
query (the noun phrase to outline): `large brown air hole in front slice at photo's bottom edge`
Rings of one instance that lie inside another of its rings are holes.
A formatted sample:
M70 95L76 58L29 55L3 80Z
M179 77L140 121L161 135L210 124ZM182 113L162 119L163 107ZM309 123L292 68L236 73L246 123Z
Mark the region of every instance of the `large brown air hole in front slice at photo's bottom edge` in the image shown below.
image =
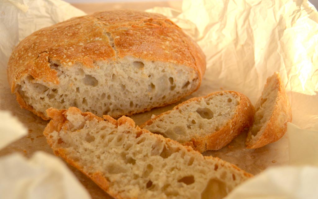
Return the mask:
M201 199L221 199L226 195L227 191L225 183L218 179L211 179L201 193Z

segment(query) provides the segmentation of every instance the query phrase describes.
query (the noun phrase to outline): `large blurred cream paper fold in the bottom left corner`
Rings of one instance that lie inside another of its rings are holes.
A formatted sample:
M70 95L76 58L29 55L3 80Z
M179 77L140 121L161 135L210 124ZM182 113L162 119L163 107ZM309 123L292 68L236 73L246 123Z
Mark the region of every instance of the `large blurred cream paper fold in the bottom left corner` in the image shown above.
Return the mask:
M0 158L0 194L8 199L90 199L90 195L59 158L38 151Z

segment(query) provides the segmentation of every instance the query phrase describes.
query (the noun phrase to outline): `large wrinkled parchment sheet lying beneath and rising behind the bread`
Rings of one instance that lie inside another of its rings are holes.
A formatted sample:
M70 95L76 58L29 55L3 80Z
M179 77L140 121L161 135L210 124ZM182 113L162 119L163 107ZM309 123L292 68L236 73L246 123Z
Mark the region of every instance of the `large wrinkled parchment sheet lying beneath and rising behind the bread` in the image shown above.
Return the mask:
M10 94L5 71L7 60L13 46L31 32L84 13L62 1L0 1L0 28L4 30L0 35L0 109L10 110L29 129L27 136L1 150L0 156L22 152L31 157L39 150L52 153L42 134L47 121L20 109ZM204 155L220 157L252 174L288 162L318 165L317 147L314 147L318 137L318 13L309 2L185 0L182 12L170 8L149 11L162 13L176 22L197 41L206 55L207 70L202 85L183 101L223 89L242 92L255 103L266 78L275 71L280 72L285 83L293 124L288 124L287 134L282 139L250 150L245 149L244 132L228 146ZM142 124L152 114L158 115L175 105L136 114L132 118L136 124ZM308 150L311 153L306 153ZM93 198L109 197L83 174L70 169ZM300 179L303 177L298 175L299 170L286 171Z

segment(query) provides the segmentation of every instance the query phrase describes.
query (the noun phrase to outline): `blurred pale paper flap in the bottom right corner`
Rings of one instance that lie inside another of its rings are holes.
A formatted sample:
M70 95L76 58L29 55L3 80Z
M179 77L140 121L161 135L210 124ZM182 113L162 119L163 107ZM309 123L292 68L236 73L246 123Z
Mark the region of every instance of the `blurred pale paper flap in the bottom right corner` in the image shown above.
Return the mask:
M318 167L273 167L235 188L225 199L317 198Z

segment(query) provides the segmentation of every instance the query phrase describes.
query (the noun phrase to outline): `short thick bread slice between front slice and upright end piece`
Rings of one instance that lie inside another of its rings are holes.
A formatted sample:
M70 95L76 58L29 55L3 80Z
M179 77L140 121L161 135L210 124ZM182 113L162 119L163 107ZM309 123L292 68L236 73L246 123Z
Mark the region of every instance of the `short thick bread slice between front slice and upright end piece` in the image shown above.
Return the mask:
M242 93L220 91L189 99L154 117L141 128L193 147L218 150L253 122L254 108Z

